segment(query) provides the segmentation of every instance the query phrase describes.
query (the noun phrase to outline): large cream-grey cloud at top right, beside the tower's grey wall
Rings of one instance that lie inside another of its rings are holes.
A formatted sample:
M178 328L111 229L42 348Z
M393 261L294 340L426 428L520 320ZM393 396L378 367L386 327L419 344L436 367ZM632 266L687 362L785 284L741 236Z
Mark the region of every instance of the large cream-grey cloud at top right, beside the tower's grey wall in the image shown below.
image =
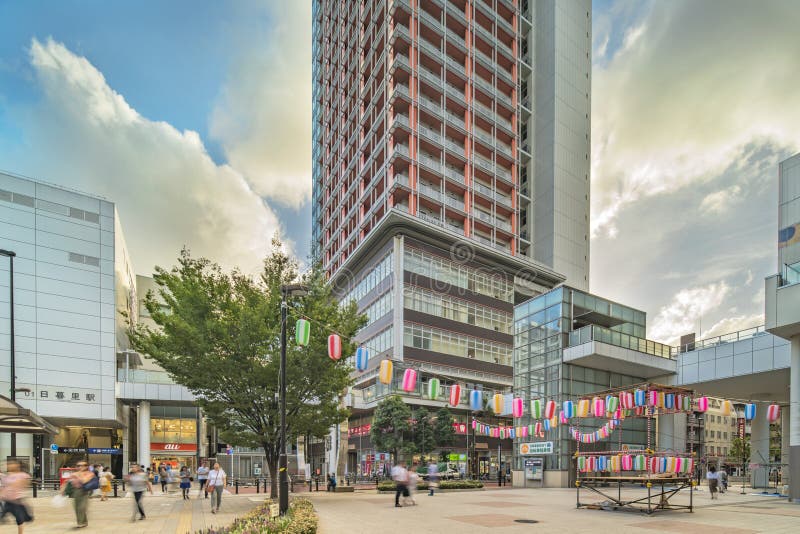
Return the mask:
M795 2L656 2L626 22L625 45L592 74L593 235L643 198L736 167L752 146L800 149Z

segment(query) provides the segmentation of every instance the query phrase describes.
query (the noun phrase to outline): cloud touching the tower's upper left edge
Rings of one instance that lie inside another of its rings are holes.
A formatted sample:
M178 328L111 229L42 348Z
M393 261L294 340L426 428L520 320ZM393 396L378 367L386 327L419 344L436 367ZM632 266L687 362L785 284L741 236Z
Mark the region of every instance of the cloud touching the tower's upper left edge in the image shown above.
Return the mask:
M210 130L258 194L299 207L311 196L311 2L261 9L268 38L239 46Z

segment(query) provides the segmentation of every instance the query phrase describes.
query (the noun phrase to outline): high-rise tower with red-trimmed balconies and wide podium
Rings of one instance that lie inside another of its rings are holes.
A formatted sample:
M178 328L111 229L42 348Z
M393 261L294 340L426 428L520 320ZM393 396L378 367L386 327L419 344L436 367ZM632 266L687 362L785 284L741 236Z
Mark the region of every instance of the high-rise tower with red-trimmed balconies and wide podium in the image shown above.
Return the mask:
M380 359L508 392L514 304L561 269L588 286L590 50L586 0L314 2L314 252L372 353L326 447L348 440L351 470L374 468L371 413L397 391Z

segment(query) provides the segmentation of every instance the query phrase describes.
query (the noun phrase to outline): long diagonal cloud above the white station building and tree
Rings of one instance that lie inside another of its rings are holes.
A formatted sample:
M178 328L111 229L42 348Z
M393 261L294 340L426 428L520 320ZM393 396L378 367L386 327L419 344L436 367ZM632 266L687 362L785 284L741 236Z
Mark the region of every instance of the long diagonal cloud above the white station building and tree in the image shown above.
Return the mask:
M43 98L16 111L26 146L0 160L114 201L137 272L171 266L184 244L226 267L259 267L279 221L240 173L214 163L196 132L143 117L52 39L34 39L30 59Z

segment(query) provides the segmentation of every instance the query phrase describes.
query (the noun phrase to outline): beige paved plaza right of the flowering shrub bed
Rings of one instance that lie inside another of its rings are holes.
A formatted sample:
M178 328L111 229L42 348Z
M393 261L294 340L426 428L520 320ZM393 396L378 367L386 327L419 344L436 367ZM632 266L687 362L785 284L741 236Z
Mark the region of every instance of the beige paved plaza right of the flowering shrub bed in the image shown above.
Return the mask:
M631 490L632 493L644 490ZM321 534L453 532L725 532L792 533L800 530L800 506L785 499L726 493L712 501L695 492L695 511L605 512L575 508L569 489L494 489L417 496L417 506L394 507L394 495L374 492L310 494ZM584 502L595 499L582 495ZM535 524L517 520L534 520Z

